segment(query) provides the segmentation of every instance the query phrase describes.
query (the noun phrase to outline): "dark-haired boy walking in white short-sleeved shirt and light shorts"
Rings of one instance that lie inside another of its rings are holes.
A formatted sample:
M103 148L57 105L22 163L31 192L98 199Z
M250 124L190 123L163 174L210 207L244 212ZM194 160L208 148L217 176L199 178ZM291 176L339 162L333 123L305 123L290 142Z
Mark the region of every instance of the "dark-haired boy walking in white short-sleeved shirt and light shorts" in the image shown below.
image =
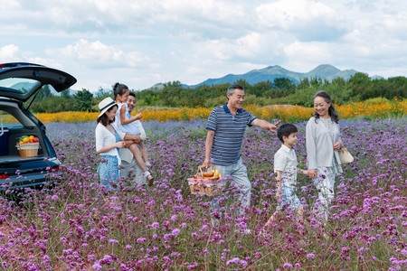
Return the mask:
M283 124L277 130L277 136L283 143L274 154L274 173L277 180L277 192L275 199L279 202L277 210L271 215L264 229L271 227L282 210L296 210L298 219L303 220L304 209L294 189L297 185L297 173L308 174L308 171L297 167L297 154L293 146L297 145L298 129L292 124Z

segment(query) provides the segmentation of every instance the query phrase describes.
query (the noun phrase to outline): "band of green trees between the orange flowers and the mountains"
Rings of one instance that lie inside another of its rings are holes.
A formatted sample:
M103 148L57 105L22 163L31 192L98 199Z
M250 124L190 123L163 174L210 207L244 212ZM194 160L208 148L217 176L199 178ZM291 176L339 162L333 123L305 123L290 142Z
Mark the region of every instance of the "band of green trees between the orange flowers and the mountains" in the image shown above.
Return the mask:
M350 79L301 79L295 84L287 78L262 81L249 84L246 80L236 81L245 89L246 104L267 106L290 104L311 107L314 94L326 90L336 104L348 104L371 98L393 100L403 99L407 95L407 79L394 77L389 79L371 79L367 74L358 72ZM230 84L201 85L196 88L184 88L179 81L167 82L162 89L133 91L136 94L137 107L216 107L227 102L226 89ZM70 90L62 91L61 96L53 96L44 87L33 100L31 110L38 113L61 111L97 111L97 104L106 97L113 97L112 91L99 89L95 96L88 89L70 95Z

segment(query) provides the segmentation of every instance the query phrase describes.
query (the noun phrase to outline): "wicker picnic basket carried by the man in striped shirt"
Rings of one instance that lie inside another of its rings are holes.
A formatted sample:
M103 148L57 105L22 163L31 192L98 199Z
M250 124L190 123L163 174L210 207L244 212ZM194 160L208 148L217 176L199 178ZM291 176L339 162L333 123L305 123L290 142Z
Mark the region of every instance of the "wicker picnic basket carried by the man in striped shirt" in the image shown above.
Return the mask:
M214 165L211 164L209 168L205 168L203 165L198 166L194 178L188 178L187 181L192 194L216 196L223 193L226 178L222 178L222 175L219 174Z

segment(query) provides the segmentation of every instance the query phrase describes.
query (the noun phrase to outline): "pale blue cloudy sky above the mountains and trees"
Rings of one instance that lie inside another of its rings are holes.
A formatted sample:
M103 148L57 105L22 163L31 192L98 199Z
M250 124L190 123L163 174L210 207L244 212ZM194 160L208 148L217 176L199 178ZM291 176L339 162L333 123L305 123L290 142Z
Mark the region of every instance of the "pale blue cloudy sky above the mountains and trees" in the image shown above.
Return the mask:
M0 62L147 89L279 65L407 76L404 0L0 0Z

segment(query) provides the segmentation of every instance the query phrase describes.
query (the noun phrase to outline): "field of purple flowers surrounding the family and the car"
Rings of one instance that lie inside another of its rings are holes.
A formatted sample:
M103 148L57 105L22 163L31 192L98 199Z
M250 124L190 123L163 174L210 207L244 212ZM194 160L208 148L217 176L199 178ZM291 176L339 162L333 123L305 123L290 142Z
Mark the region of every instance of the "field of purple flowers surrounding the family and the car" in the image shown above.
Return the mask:
M406 121L341 121L342 139L355 156L336 178L327 226L312 213L317 191L298 181L306 225L293 215L259 234L277 201L275 134L248 129L241 156L252 184L251 210L236 215L233 183L223 195L225 218L213 228L209 197L192 195L187 178L204 162L205 121L147 122L144 126L153 187L107 192L96 173L96 123L48 124L62 161L53 188L0 198L3 270L405 270L407 268ZM307 159L299 128L300 167ZM251 233L247 233L251 229Z

